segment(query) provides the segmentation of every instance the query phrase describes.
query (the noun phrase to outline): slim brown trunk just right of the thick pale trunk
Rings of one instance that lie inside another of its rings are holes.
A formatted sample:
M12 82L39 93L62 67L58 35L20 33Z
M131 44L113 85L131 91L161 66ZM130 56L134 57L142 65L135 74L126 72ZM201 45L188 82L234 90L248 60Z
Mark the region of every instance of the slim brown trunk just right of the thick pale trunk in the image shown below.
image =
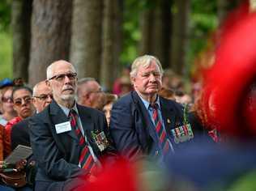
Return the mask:
M114 43L114 1L104 1L103 13L103 47L102 47L102 65L100 70L100 84L107 90L111 90L113 84L113 43Z

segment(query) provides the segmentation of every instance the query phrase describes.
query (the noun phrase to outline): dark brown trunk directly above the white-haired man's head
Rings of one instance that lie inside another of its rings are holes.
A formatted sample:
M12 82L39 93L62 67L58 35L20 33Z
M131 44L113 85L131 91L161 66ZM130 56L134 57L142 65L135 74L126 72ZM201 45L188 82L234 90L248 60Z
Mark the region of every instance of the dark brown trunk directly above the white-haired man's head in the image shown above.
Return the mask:
M139 54L153 54L165 67L169 66L171 1L158 0L148 6L141 16Z

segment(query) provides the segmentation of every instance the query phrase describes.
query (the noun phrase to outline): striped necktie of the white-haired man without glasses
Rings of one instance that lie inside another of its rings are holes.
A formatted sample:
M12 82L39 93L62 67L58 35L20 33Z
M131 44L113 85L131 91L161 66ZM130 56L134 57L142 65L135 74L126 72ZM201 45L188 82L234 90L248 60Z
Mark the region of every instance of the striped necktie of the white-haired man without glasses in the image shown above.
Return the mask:
M167 138L166 130L164 129L164 126L162 125L158 115L158 104L154 104L151 107L153 108L153 119L156 125L156 134L159 138L161 149L163 150L163 153L166 154L170 150L171 146Z

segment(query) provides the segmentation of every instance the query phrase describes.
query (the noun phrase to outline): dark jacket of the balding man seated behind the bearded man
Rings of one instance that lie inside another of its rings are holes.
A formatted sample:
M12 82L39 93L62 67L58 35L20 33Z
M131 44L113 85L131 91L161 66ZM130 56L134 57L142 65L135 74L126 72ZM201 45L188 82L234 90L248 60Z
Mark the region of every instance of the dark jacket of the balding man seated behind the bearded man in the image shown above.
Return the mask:
M13 125L11 129L11 150L14 150L18 145L30 146L29 117Z

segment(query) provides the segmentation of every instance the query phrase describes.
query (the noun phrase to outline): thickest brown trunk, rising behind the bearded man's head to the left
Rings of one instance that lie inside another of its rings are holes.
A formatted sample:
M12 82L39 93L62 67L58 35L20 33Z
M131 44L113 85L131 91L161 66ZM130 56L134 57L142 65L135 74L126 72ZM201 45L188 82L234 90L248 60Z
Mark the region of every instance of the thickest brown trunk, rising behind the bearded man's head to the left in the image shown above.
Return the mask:
M54 61L69 59L72 1L34 0L29 83L45 79L45 69Z

